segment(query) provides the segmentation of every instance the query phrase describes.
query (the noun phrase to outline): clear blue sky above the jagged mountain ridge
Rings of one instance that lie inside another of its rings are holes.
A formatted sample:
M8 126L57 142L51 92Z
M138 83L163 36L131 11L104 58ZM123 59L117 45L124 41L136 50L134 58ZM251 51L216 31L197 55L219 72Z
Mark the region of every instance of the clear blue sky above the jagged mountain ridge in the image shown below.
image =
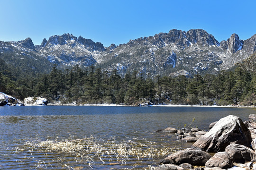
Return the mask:
M104 46L201 28L219 42L256 34L256 0L0 0L0 41L70 33Z

